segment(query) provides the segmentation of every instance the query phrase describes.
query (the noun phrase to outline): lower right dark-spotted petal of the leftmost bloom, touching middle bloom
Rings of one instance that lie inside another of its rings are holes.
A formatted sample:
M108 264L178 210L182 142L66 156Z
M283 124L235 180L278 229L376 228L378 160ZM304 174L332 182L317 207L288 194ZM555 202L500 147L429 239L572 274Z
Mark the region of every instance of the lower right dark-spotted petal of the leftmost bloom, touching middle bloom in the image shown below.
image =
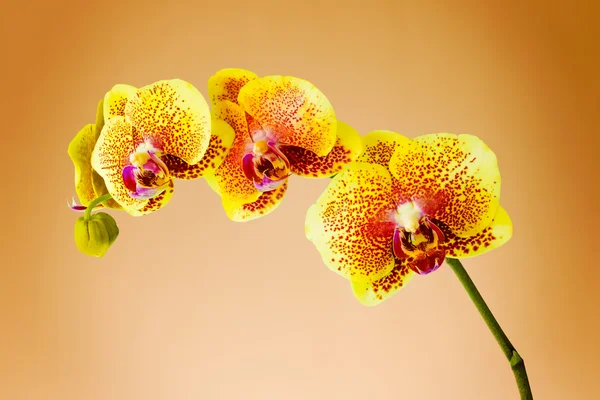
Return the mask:
M164 155L161 157L169 168L171 176L177 179L196 179L208 171L214 171L225 159L233 143L235 132L225 121L213 119L212 135L208 150L199 163L190 165L179 157Z

